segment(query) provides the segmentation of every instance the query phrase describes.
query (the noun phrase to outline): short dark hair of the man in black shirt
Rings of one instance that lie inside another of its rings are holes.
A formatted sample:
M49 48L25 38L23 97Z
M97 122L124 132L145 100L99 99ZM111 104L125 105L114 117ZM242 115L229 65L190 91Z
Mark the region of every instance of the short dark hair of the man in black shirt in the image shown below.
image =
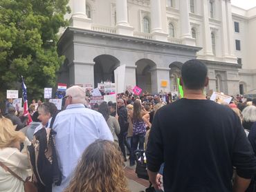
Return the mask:
M188 89L200 89L204 87L207 76L207 67L202 61L192 59L186 61L181 68L183 84Z

